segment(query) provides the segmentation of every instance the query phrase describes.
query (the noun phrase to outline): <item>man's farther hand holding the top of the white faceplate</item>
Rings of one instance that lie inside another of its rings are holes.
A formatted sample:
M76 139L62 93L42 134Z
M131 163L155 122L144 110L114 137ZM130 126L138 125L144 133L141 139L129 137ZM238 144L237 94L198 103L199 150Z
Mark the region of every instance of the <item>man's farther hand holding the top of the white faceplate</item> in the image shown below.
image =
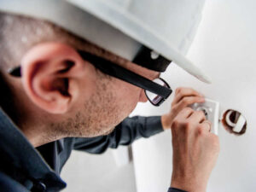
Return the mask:
M205 99L200 93L193 89L177 88L170 113L166 113L161 117L164 130L171 129L173 119L175 119L177 114L181 112L183 108L186 108L195 102L205 102Z

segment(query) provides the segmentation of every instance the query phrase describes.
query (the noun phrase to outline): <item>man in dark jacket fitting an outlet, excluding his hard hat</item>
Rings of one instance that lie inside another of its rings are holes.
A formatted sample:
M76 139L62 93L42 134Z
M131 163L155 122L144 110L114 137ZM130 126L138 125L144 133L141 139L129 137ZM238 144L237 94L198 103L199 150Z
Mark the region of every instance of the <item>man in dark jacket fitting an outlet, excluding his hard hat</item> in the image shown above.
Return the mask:
M152 81L160 73L45 20L2 12L0 25L2 191L61 190L65 183L58 175L72 149L99 154L171 127L169 191L206 191L218 137L202 112L187 108L204 102L203 96L179 88L170 113L126 118L149 96L101 66L111 61L120 72L128 69Z

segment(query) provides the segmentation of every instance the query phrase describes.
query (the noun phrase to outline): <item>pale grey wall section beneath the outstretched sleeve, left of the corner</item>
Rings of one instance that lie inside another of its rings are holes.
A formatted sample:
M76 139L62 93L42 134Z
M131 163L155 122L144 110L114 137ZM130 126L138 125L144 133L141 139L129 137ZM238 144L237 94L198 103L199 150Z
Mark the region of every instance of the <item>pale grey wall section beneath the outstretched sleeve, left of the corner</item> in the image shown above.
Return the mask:
M113 150L104 154L73 151L61 172L61 178L67 182L63 192L136 191L133 164L118 166Z

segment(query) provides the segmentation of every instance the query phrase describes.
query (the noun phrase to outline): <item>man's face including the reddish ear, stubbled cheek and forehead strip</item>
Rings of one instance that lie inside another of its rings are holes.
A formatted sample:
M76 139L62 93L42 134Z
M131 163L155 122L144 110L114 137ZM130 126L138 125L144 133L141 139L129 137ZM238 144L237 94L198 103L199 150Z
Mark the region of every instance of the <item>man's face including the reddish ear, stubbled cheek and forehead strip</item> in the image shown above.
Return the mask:
M116 55L105 57L147 79L159 76ZM100 72L67 44L38 44L26 52L21 63L24 90L37 105L30 109L31 117L37 111L49 119L47 125L46 119L40 120L55 137L108 134L137 102L147 102L144 90Z

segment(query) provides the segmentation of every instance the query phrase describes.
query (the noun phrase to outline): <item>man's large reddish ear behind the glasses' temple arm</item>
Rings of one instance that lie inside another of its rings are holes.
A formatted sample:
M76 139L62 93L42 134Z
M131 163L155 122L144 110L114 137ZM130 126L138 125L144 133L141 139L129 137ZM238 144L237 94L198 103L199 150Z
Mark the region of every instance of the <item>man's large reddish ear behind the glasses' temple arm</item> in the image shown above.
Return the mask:
M49 113L67 113L79 96L84 64L78 52L67 44L34 46L21 61L22 84L27 96Z

